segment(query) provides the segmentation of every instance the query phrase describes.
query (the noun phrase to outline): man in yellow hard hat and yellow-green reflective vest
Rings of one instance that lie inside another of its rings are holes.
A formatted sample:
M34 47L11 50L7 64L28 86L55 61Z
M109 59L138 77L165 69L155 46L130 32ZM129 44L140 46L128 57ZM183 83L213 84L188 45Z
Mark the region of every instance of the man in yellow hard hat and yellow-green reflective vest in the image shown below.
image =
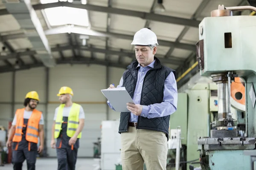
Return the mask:
M55 109L51 147L57 150L58 170L75 170L84 127L84 110L81 105L72 102L73 95L72 89L66 86L61 87L57 94L61 105Z

